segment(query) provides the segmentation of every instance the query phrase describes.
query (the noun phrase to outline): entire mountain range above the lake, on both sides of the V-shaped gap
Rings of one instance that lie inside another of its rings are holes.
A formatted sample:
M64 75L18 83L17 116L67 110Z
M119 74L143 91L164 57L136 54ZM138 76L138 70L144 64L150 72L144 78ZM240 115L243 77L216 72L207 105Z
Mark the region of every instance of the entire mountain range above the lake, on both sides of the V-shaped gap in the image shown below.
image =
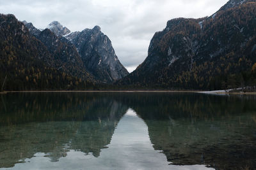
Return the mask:
M9 90L219 90L256 85L256 1L230 0L204 18L154 34L132 73L99 26L46 29L0 15L0 83Z

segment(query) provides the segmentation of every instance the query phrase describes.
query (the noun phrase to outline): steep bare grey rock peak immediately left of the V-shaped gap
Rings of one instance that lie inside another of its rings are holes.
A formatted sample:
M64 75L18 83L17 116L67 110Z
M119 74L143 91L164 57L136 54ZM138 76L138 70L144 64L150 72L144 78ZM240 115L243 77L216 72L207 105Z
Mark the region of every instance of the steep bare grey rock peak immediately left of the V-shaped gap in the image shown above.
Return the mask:
M76 46L84 66L97 80L111 83L129 74L118 60L110 39L100 31L99 26L73 32L65 38Z

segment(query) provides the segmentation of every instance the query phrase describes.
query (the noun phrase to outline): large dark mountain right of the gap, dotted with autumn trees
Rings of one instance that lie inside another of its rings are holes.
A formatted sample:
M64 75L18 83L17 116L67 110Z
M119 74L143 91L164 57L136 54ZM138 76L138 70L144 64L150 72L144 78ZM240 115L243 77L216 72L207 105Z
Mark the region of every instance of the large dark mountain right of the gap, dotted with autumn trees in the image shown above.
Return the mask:
M231 0L211 17L169 20L150 41L145 61L117 85L212 90L255 85L255 18L255 1Z

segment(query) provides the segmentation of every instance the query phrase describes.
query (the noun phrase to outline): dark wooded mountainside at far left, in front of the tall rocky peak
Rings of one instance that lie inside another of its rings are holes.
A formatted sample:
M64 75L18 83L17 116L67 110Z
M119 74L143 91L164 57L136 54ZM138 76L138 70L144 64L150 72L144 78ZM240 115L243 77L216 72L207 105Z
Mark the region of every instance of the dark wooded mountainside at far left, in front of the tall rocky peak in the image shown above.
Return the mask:
M0 82L2 85L6 77L4 90L93 87L95 81L92 76L82 67L81 60L80 65L77 62L79 55L76 48L68 46L68 42L59 43L54 34L49 36L52 34L49 30L38 32L32 24L29 24L28 29L14 15L0 15L0 29ZM38 35L41 41L31 35L32 32ZM49 38L47 43L52 43L52 48L44 42L45 34ZM62 51L64 49L67 52L73 50L76 55L63 55L66 52Z

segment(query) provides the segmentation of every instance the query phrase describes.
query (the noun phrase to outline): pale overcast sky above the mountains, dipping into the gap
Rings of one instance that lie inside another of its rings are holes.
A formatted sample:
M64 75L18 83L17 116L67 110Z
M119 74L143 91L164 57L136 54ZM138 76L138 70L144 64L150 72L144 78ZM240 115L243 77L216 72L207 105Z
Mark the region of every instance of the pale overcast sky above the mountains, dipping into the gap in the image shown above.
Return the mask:
M147 57L150 39L172 18L212 15L227 0L0 0L0 13L45 28L53 20L73 31L95 25L112 41L128 71Z

